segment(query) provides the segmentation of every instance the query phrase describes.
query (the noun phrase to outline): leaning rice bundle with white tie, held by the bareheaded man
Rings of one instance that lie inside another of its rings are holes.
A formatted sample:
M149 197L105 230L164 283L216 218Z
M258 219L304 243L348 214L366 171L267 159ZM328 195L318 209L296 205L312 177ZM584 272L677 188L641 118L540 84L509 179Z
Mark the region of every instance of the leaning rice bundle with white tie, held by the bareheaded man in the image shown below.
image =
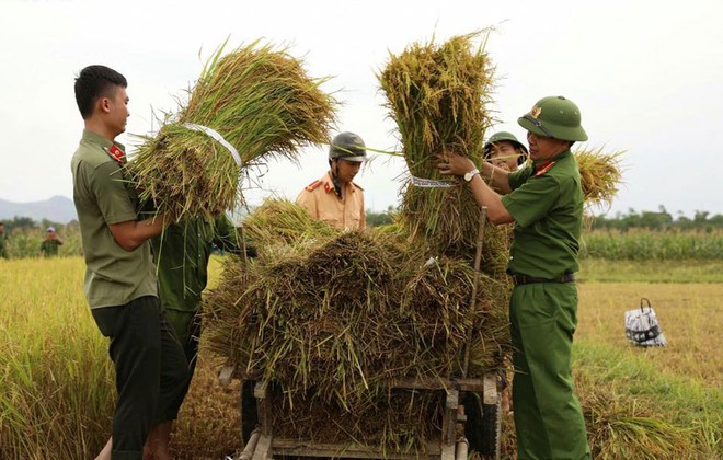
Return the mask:
M246 169L280 157L295 160L301 146L328 142L336 102L286 49L259 42L206 64L190 100L167 116L129 163L140 198L176 221L233 209L243 202ZM192 125L188 125L192 124ZM236 148L240 164L208 127Z

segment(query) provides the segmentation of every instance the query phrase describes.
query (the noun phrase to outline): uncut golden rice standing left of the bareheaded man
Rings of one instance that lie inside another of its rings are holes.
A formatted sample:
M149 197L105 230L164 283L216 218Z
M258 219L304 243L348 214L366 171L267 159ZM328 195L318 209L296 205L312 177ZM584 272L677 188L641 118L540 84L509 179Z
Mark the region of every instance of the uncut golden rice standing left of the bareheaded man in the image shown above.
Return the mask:
M0 458L84 458L110 434L113 368L83 271L80 257L0 261Z

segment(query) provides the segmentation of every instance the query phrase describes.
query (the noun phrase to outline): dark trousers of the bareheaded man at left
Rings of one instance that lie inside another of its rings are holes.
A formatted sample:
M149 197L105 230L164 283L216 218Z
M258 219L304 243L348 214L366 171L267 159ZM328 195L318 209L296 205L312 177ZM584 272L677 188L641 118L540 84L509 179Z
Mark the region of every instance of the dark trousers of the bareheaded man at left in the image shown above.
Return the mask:
M118 401L113 414L112 458L140 460L150 429L175 416L169 407L183 391L188 364L157 297L140 297L92 313L103 335L111 338L115 365Z

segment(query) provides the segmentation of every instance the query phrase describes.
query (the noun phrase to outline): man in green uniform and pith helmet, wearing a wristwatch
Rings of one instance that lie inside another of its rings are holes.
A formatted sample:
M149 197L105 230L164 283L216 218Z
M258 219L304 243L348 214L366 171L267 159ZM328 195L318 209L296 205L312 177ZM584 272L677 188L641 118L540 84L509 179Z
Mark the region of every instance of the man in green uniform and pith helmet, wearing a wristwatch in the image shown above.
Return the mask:
M507 272L514 283L509 322L517 458L589 459L571 369L583 194L570 148L587 134L579 110L563 96L541 99L517 123L527 130L528 166L507 172L484 163L480 172L469 158L443 152L438 168L464 177L492 223L515 223Z

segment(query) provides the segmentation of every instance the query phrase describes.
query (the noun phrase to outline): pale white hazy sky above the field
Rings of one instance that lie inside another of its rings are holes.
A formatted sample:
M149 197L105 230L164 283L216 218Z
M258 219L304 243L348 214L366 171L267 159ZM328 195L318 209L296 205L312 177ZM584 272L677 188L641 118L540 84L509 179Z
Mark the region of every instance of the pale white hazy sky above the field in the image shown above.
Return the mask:
M486 45L496 65L492 128L525 133L516 119L547 95L579 106L588 147L627 150L611 211L723 212L718 171L723 125L723 2L678 1L12 1L0 0L0 198L72 196L70 158L82 119L73 78L91 64L128 79L128 131L146 134L152 110L175 112L223 39L290 44L312 77L344 104L338 130L368 146L399 149L376 74L389 53L495 26ZM133 143L127 135L119 137ZM326 168L308 149L301 169L277 163L259 203L294 199ZM710 169L712 168L712 170ZM401 159L375 159L357 181L367 205L399 203Z

